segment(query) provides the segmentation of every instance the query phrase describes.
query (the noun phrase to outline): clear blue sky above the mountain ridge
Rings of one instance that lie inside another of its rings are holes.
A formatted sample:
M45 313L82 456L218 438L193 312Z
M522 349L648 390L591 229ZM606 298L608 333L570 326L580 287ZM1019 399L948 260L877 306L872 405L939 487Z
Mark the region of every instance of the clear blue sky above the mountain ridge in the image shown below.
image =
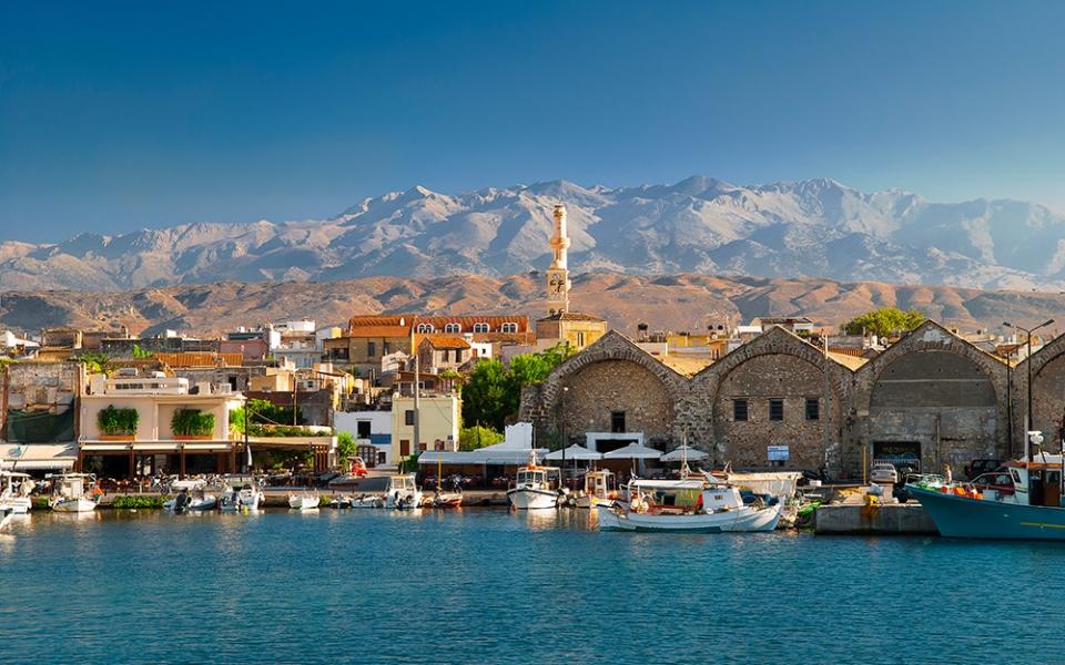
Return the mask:
M1065 212L1065 2L7 2L0 239L834 177Z

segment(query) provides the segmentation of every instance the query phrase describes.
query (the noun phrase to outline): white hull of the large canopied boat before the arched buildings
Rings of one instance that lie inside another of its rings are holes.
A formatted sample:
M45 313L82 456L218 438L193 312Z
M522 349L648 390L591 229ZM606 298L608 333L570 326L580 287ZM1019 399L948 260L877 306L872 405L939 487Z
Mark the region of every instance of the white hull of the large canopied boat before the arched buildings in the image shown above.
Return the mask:
M596 507L600 531L672 531L684 533L763 532L777 529L781 505L741 508L728 512L687 515L633 513L610 505Z

